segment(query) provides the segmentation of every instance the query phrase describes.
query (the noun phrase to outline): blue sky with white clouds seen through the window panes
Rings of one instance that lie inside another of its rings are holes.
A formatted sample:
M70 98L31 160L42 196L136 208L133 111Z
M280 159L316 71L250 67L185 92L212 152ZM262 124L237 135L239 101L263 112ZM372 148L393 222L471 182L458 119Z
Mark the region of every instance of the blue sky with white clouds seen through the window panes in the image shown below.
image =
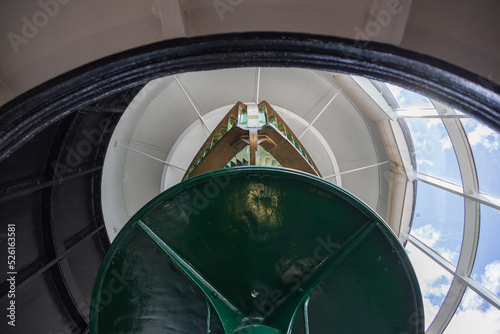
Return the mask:
M424 96L387 84L401 108L432 107ZM476 164L480 192L500 197L500 135L471 118L461 119ZM417 171L461 185L460 169L446 128L438 118L407 118ZM481 228L471 277L500 296L500 212L481 205ZM464 226L461 196L418 182L411 234L456 265ZM412 244L407 252L424 297L426 328L437 314L453 276ZM500 310L467 289L446 334L500 334Z

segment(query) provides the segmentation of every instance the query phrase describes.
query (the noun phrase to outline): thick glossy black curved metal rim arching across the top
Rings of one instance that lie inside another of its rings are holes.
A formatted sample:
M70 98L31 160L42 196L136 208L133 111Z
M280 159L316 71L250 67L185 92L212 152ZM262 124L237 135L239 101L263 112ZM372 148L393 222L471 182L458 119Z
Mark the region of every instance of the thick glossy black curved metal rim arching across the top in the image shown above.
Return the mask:
M77 108L165 75L210 69L302 67L391 82L450 104L500 130L500 86L395 46L297 33L235 33L158 42L52 79L0 108L0 161Z

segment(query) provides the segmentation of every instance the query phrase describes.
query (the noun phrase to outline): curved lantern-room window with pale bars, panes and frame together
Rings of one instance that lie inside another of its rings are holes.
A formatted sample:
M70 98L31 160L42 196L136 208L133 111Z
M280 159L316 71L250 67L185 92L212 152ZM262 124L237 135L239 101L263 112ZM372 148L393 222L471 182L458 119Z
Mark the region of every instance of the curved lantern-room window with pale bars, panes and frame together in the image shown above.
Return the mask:
M386 97L393 109L390 116L406 122L410 136L405 139L411 139L408 147L415 150L413 170L407 168L417 184L413 225L403 238L422 290L426 328L433 333L443 328L448 334L498 333L500 134L458 110L439 103L434 107L422 95L386 86L393 95ZM466 156L471 151L472 156ZM472 234L478 228L479 234ZM470 235L463 235L464 230ZM464 277L457 266L463 261L461 268L470 268L471 254L461 252L473 252L475 238L474 266ZM464 250L462 239L468 246ZM456 311L442 308L458 303ZM433 323L438 312L439 320Z

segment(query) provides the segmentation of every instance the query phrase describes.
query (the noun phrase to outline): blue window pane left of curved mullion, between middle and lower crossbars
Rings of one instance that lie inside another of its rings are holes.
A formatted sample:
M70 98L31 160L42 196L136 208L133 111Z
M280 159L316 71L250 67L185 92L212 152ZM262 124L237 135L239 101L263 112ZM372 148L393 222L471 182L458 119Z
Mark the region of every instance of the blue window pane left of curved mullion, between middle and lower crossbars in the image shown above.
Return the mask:
M424 182L417 182L411 235L457 265L464 225L464 200Z

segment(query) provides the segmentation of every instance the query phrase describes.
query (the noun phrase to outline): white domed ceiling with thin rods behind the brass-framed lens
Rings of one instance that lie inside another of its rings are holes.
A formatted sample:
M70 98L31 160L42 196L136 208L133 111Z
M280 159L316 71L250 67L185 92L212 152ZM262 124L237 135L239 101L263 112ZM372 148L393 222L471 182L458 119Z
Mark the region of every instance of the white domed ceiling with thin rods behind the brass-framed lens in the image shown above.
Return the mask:
M236 102L262 100L299 136L324 178L386 218L390 164L384 143L376 123L349 99L335 74L226 69L152 81L126 110L104 165L103 208L110 238L144 204L181 181Z

